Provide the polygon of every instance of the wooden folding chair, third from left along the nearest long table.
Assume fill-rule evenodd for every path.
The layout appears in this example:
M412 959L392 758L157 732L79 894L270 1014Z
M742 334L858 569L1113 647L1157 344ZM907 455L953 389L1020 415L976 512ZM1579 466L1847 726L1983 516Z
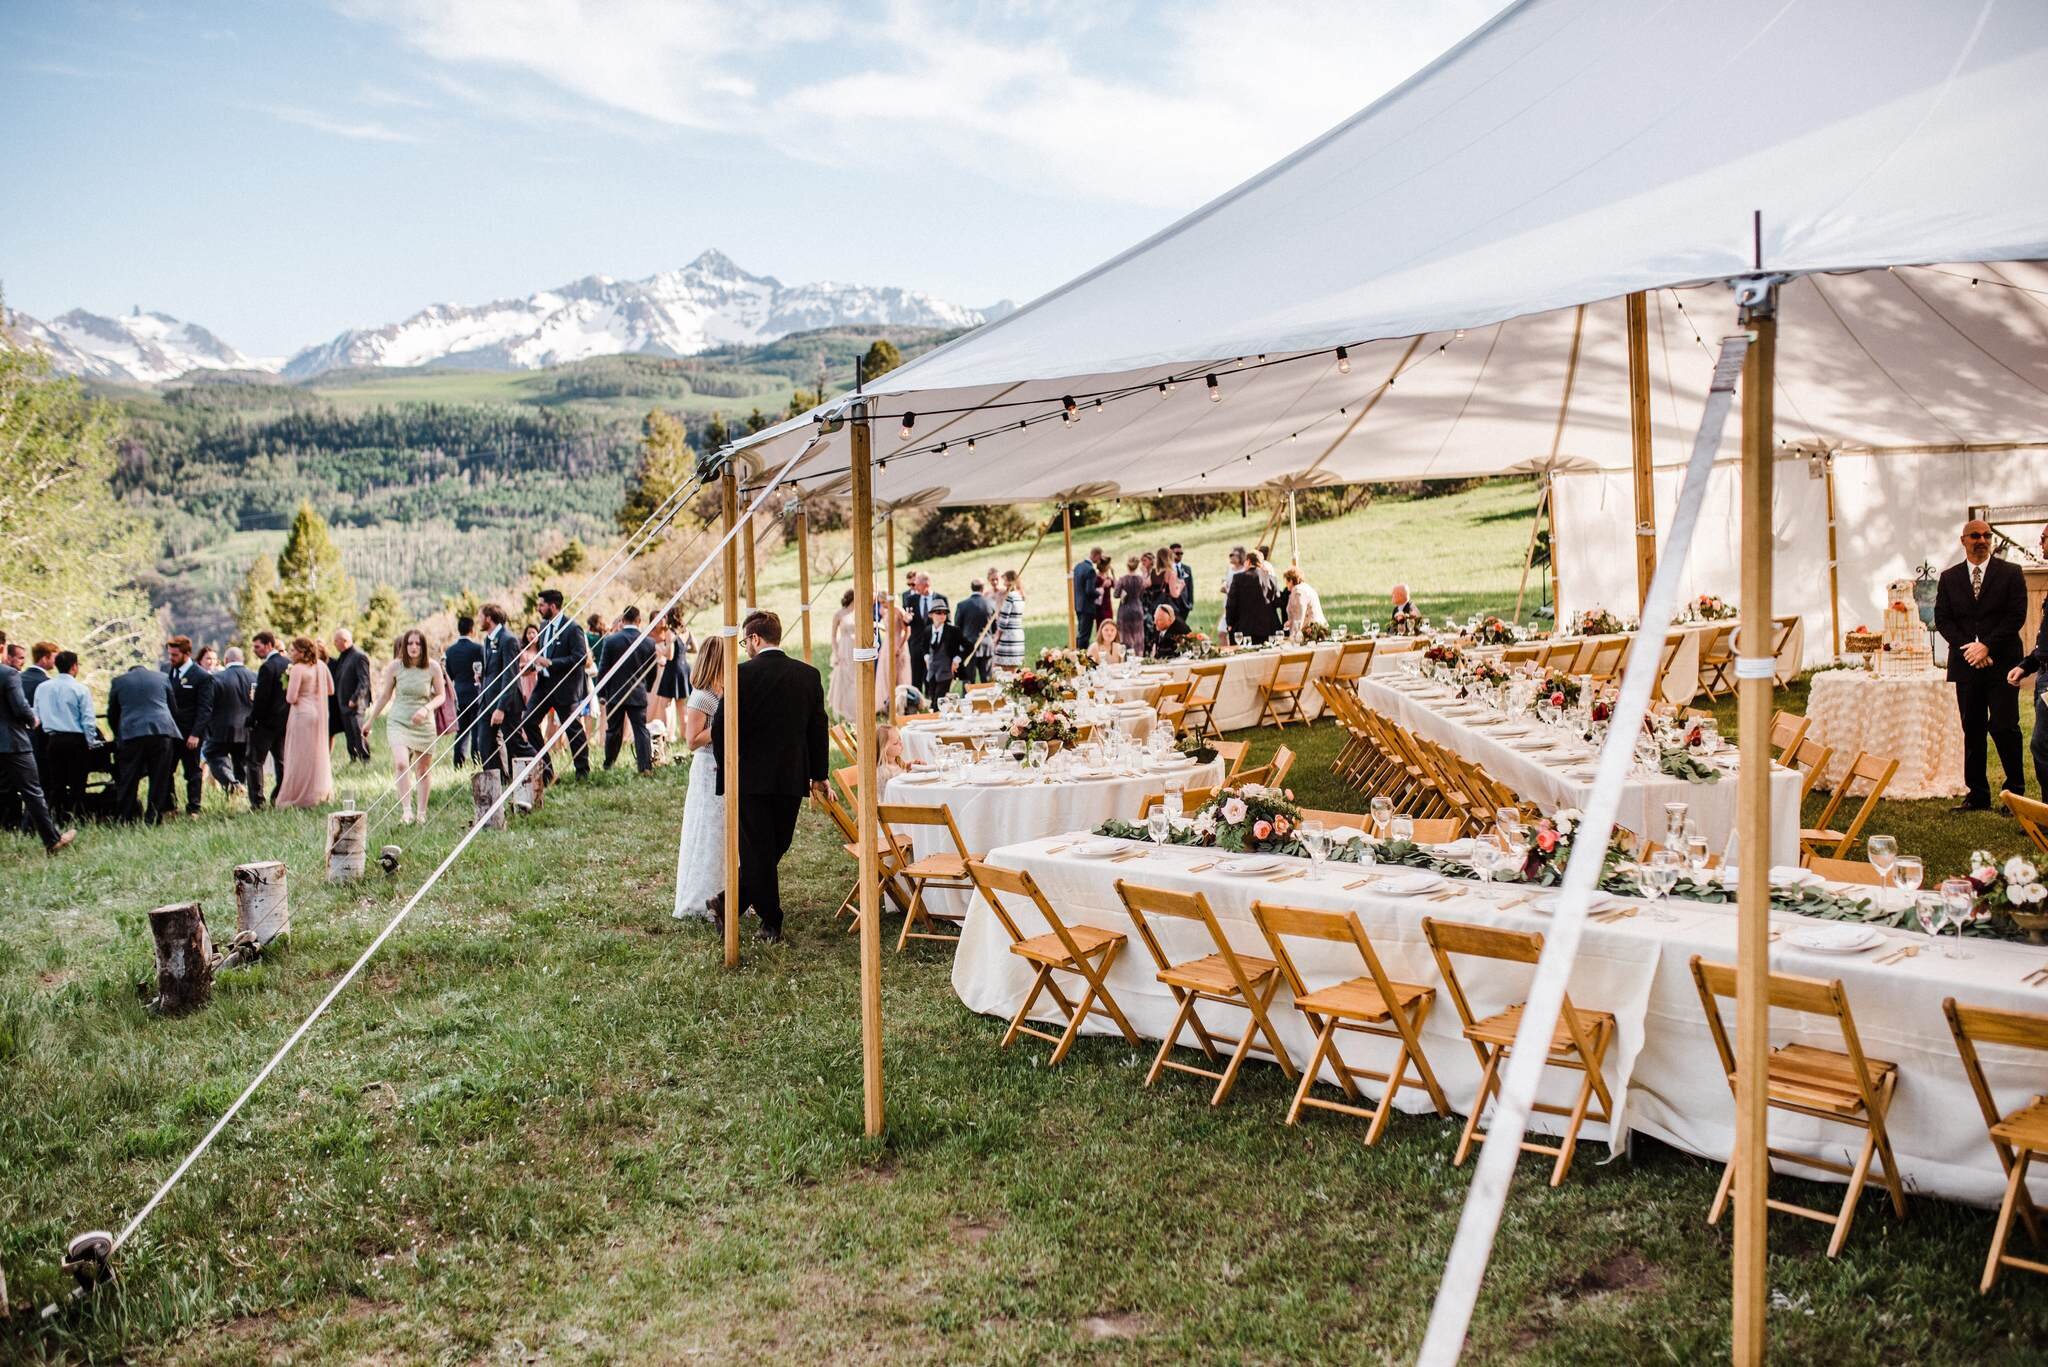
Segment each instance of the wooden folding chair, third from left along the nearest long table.
M1370 1121L1370 1125L1366 1125L1366 1146L1370 1148L1378 1144L1380 1135L1386 1131L1386 1119L1393 1115L1395 1094L1403 1086L1423 1088L1430 1092L1430 1101L1436 1103L1436 1113L1450 1115L1450 1103L1444 1099L1444 1088L1438 1086L1436 1072L1430 1068L1430 1058L1421 1049L1421 1025L1430 1019L1430 1006L1436 1004L1436 988L1415 982L1393 982L1386 978L1386 969L1380 967L1380 957L1372 951L1372 941L1366 937L1366 926L1360 924L1354 912L1315 912L1298 906L1253 902L1251 918L1260 922L1266 943L1272 945L1274 961L1280 965L1280 974L1286 978L1286 986L1294 994L1294 1010L1298 1010L1309 1023L1309 1029L1315 1031L1315 1053L1309 1055L1309 1064L1300 1070L1300 1086L1294 1088L1294 1105L1286 1111L1288 1125L1300 1121L1303 1107L1356 1115ZM1290 935L1333 945L1352 945L1358 949L1358 957L1364 959L1366 971L1358 978L1348 978L1343 982L1311 990L1307 980L1300 976L1300 967L1294 963L1294 955L1286 951L1286 937ZM1354 1035L1378 1035L1380 1039L1399 1039L1401 1049L1395 1053L1393 1072L1366 1072L1346 1064L1343 1053L1337 1047L1337 1039L1343 1031ZM1343 1088L1348 1101L1323 1101L1313 1094L1315 1080L1325 1062L1329 1064L1331 1074L1335 1074L1337 1086ZM1415 1078L1407 1076L1409 1064L1415 1066ZM1364 1103L1364 1094L1358 1090L1360 1080L1378 1082L1382 1086L1380 1105L1370 1111L1360 1105Z

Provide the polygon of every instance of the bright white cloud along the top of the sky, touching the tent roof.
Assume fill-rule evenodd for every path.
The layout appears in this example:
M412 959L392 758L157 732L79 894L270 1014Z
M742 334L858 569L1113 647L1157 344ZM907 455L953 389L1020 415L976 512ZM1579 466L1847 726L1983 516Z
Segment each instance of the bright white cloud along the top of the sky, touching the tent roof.
M770 0L338 2L438 61L520 72L655 125L1149 207L1229 189L1499 8L885 0L856 23ZM530 96L512 98L532 115Z

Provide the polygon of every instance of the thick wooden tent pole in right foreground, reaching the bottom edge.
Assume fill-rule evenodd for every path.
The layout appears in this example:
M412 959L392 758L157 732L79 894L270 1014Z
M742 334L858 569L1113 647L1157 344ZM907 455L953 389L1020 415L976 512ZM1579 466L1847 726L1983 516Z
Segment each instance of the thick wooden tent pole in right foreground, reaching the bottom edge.
M1743 641L1737 660L1737 728L1743 769L1737 828L1741 887L1735 951L1735 1340L1737 1363L1765 1349L1767 1250L1765 1070L1769 1066L1769 851L1772 851L1772 387L1778 289L1745 307L1755 338L1743 361ZM1757 666L1751 676L1749 666Z

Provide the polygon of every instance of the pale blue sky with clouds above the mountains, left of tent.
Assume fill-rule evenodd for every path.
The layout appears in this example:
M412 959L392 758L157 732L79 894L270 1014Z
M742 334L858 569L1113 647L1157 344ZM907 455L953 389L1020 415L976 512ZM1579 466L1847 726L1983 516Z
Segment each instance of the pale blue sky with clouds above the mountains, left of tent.
M0 4L0 281L285 355L717 246L1028 299L1497 0ZM1194 283L1198 287L1198 283Z

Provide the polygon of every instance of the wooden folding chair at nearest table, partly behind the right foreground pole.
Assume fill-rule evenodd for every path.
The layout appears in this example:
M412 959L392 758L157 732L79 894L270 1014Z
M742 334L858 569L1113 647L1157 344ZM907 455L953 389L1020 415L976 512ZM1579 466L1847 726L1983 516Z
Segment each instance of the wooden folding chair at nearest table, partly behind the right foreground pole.
M1735 1047L1729 1043L1729 1027L1720 1021L1720 1002L1716 1000L1722 996L1735 996L1735 965L1706 963L1700 955L1694 955L1692 980L1700 988L1700 1004L1706 1008L1706 1027L1714 1033L1714 1049L1720 1051L1720 1068L1729 1074L1729 1090L1735 1092ZM1892 1195L1892 1209L1898 1211L1901 1219L1905 1219L1907 1189L1898 1180L1898 1164L1892 1162L1892 1142L1884 1133L1884 1117L1886 1111L1890 1111L1892 1092L1898 1088L1898 1066L1864 1053L1864 1045L1855 1035L1855 1019L1849 1014L1849 998L1843 994L1839 978L1827 980L1772 974L1765 992L1769 996L1769 1006L1780 1010L1804 1010L1817 1017L1833 1017L1841 1027L1841 1049L1780 1045L1772 1049L1769 1066L1763 1074L1767 1092L1765 1103L1769 1109L1806 1115L1817 1121L1833 1121L1837 1125L1849 1125L1864 1131L1864 1150L1858 1154L1853 1166L1843 1166L1831 1158L1806 1158L1804 1154L1776 1150L1765 1144L1769 1158L1796 1162L1823 1172L1837 1172L1849 1178L1849 1189L1843 1193L1841 1209L1833 1215L1806 1205L1765 1197L1765 1205L1774 1211L1784 1215L1804 1215L1806 1219L1817 1219L1833 1228L1835 1234L1827 1240L1827 1256L1833 1258L1841 1252L1843 1240L1849 1238L1849 1221L1855 1219L1855 1201L1864 1195L1864 1183L1870 1178L1872 1156L1876 1156L1884 1185ZM1714 1193L1714 1205L1706 1215L1706 1224L1720 1224L1720 1213L1729 1207L1729 1193L1735 1191L1737 1152L1733 1150L1739 1148L1741 1146L1737 1144L1729 1152L1729 1166L1720 1174L1720 1191Z

